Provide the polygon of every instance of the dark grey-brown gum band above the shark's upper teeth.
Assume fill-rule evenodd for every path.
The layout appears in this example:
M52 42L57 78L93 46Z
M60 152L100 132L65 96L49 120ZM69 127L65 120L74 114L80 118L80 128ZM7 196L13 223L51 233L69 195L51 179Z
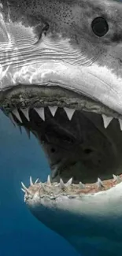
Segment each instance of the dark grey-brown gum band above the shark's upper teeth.
M60 83L43 83L41 85L23 85L6 87L0 92L0 106L6 113L14 109L39 108L46 106L68 107L69 109L91 111L108 117L122 119L120 113L101 102L75 91L62 87Z

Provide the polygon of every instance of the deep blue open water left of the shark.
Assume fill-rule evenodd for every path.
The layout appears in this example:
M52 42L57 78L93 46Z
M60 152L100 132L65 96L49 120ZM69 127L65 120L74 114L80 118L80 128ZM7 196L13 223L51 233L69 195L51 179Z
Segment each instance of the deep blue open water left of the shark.
M20 181L46 180L50 169L38 141L29 140L0 113L0 256L78 256L66 241L31 215Z

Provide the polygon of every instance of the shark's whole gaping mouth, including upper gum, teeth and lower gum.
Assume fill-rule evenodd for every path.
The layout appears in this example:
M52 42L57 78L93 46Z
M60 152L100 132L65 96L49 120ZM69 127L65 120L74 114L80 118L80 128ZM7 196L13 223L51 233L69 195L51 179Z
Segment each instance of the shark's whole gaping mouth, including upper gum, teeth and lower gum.
M56 193L57 187L68 194L94 193L120 183L122 132L117 113L83 95L51 86L29 90L18 86L3 92L1 102L13 123L39 139ZM49 186L44 184L47 194Z

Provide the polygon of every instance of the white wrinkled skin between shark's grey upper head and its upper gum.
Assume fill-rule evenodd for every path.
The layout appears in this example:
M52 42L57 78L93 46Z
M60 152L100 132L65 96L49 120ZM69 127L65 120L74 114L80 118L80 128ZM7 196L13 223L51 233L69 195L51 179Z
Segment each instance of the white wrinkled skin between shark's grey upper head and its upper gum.
M25 28L24 28L25 29ZM43 36L39 43L17 46L17 43L0 46L2 49L0 92L19 85L29 87L61 87L72 93L84 95L122 114L121 78L111 69L92 63L79 46L58 35ZM114 115L112 115L114 116Z

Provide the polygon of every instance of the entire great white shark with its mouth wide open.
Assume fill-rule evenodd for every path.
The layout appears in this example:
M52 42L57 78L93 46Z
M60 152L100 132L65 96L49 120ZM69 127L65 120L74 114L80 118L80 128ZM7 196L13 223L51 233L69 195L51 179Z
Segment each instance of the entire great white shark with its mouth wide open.
M84 256L120 255L122 3L1 0L0 107L50 164L22 183L31 213Z

